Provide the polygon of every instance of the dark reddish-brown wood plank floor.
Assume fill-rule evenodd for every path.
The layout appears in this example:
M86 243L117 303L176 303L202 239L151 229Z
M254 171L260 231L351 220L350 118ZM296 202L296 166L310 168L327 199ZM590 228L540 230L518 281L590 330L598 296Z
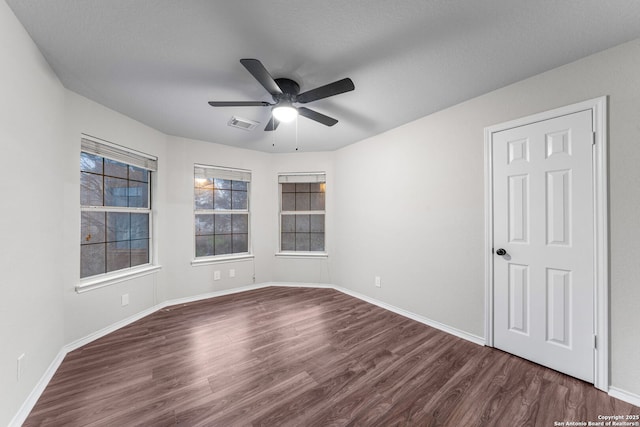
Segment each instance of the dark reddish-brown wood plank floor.
M25 426L553 426L640 414L330 289L168 307L67 355Z

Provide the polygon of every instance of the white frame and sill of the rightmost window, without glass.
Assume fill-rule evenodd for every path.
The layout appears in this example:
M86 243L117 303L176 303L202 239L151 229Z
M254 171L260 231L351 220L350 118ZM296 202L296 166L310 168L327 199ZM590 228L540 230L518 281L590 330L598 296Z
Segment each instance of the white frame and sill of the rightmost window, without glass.
M327 174L326 172L289 172L278 174L278 248L277 257L284 258L327 258ZM324 210L308 210L308 211L283 211L282 210L282 185L283 184L313 184L322 183L325 185L325 206ZM282 250L282 217L283 215L324 215L323 234L324 234L324 250L322 251L296 251Z

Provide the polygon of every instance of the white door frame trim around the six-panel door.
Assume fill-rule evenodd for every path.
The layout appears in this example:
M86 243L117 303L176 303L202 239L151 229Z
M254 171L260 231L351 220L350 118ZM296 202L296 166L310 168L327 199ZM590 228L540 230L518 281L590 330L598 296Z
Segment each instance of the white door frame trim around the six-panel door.
M528 124L591 111L593 117L594 197L594 386L609 391L609 199L607 97L556 108L484 129L485 345L493 347L493 134Z

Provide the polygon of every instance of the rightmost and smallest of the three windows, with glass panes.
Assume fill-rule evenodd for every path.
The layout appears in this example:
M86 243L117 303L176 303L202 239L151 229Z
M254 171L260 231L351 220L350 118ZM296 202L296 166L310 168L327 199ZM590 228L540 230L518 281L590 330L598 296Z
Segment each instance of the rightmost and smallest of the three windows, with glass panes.
M325 252L325 174L281 174L280 252Z

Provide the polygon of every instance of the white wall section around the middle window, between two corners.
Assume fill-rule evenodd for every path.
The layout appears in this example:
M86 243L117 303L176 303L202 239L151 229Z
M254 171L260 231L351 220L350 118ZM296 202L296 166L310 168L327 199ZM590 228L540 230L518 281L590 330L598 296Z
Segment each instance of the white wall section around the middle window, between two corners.
M242 131L239 131L242 132ZM271 236L269 234L273 201L268 196L267 181L270 156L184 138L170 137L167 148L167 223L166 257L163 265L168 274L164 299L176 299L205 294L271 280L268 262ZM193 166L196 163L252 172L250 189L250 232L253 259L229 263L192 266L194 259ZM235 277L229 277L229 270ZM214 281L214 272L220 280ZM255 274L255 280L254 280Z

